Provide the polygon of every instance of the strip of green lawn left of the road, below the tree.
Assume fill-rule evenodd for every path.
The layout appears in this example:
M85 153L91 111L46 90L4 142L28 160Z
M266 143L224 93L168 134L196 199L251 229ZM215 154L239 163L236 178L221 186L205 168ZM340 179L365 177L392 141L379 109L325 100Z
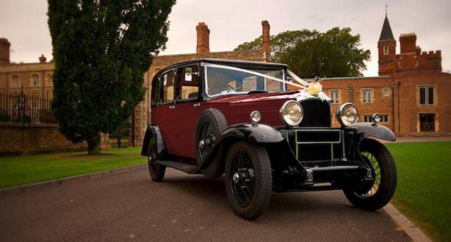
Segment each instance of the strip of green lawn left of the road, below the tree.
M0 188L144 164L141 147L103 150L99 156L69 152L0 157Z

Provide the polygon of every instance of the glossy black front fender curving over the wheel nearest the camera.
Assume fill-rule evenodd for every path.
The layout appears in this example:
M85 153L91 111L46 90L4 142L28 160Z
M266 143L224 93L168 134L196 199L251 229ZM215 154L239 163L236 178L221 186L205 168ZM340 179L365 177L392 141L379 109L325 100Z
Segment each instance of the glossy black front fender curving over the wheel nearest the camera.
M283 142L280 131L265 124L239 123L229 126L216 140L211 152L197 170L213 178L223 174L228 148L237 140L248 140L259 145ZM194 171L193 171L194 172Z

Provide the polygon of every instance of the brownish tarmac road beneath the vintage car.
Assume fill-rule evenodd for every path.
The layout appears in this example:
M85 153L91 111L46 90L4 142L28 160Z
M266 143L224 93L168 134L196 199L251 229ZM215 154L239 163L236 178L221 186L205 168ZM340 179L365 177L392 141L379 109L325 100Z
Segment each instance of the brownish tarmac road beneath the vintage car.
M273 193L264 216L233 214L221 179L147 169L0 197L0 241L410 241L383 210L340 191Z

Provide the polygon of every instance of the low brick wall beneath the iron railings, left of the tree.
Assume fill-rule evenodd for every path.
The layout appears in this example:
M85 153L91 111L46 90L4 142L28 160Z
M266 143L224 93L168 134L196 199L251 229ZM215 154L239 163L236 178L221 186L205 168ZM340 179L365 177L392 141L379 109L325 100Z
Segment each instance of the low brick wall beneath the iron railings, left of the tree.
M86 143L73 144L55 124L0 123L0 156L87 150Z

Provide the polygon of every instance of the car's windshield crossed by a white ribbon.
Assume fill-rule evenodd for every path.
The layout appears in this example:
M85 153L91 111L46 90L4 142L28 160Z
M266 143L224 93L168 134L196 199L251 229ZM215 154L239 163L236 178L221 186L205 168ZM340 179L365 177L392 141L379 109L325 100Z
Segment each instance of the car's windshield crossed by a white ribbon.
M217 95L245 94L252 91L281 92L285 84L271 79L285 80L283 69L254 70L228 66L206 66L206 93Z

